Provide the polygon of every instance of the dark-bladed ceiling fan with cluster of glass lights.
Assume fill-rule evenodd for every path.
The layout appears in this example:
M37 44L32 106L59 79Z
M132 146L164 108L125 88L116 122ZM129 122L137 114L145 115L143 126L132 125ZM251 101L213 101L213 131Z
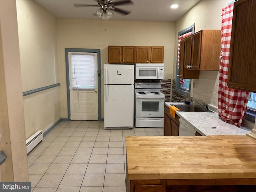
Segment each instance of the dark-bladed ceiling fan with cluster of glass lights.
M74 7L94 7L99 6L100 8L95 11L96 16L101 17L102 19L106 20L112 17L114 14L112 11L118 12L122 15L128 15L131 12L128 10L123 10L120 8L116 8L116 6L123 5L123 4L133 4L131 0L122 0L117 2L112 2L112 0L94 0L98 2L98 5L91 5L91 4L74 4Z

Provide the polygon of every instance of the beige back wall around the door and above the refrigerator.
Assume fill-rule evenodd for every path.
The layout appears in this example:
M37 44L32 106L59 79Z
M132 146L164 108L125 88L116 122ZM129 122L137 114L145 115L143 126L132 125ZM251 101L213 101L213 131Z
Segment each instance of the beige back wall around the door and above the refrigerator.
M68 116L65 48L100 49L101 70L103 70L103 64L108 62L108 45L164 46L164 78L172 78L174 75L174 36L174 22L57 19L61 118ZM103 82L102 78L101 81ZM101 91L103 98L103 86ZM104 116L103 103L102 99L102 117Z

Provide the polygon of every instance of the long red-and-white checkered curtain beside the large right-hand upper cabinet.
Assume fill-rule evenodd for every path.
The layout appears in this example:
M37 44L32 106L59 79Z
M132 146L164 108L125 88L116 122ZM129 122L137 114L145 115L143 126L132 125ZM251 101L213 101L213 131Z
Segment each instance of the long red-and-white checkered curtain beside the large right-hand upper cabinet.
M233 8L234 4L230 4L222 9L222 60L220 62L218 113L225 122L241 126L246 113L249 92L230 89L227 86Z

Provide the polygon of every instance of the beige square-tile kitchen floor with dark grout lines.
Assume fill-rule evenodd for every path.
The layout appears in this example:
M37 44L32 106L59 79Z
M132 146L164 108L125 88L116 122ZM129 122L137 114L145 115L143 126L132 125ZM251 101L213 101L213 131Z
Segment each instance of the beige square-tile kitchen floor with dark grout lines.
M126 136L163 128L105 130L101 121L60 122L28 154L33 192L125 192Z

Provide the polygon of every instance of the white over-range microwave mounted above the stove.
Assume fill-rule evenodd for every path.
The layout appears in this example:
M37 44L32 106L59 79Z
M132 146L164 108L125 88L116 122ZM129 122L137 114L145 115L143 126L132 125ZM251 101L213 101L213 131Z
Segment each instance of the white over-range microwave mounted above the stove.
M163 79L164 64L163 63L142 63L135 64L136 79Z

